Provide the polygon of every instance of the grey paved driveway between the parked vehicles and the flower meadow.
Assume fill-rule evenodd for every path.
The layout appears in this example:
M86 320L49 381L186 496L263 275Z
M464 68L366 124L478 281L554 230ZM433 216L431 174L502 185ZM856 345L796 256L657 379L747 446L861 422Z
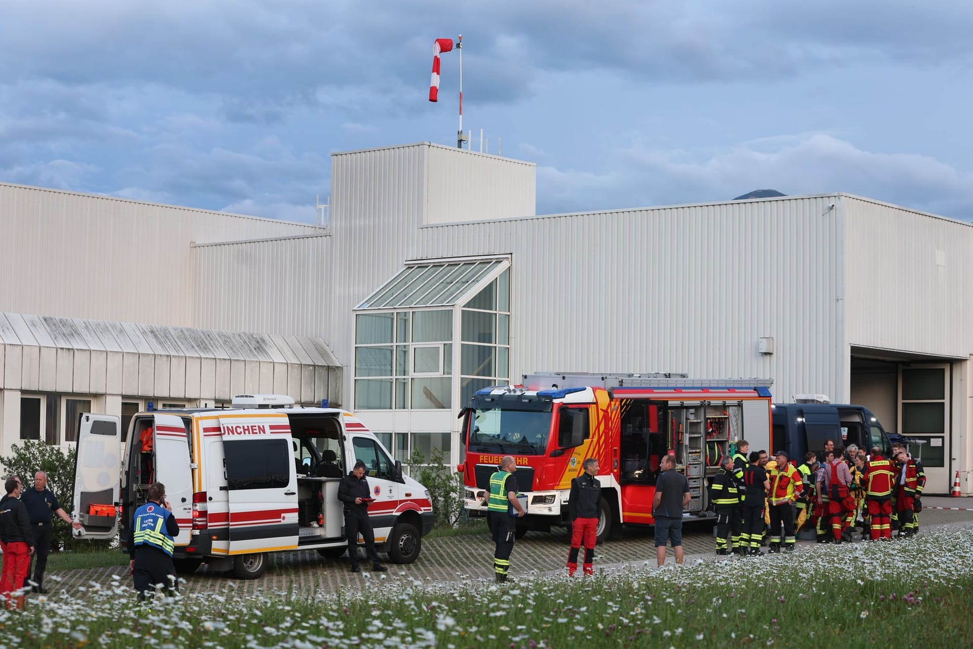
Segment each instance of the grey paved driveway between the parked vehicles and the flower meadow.
M973 522L973 511L933 509L933 507L969 508L973 510L973 498L937 498L927 496L922 499L925 509L919 515L921 526L949 523ZM713 556L712 525L703 523L687 525L683 532L683 543L688 556ZM800 546L813 541L799 541ZM563 569L567 559L568 538L563 530L552 533L528 532L517 541L511 557L511 574L522 575L530 572L558 571ZM669 549L671 554L671 549ZM422 544L422 553L410 565L388 563L389 571L384 575L372 575L367 571L361 575L348 572L347 559L322 559L316 552L303 551L271 555L270 567L262 579L240 581L223 574L208 572L205 567L197 574L188 577L184 592L244 592L251 593L260 589L265 592L299 593L315 591L335 592L345 585L359 583L362 579L381 578L390 582L461 581L467 579L489 579L493 577L493 543L486 531L479 534L448 536L427 539ZM595 567L598 564L617 564L632 561L655 561L655 544L650 527L627 527L624 538L598 546L595 551ZM365 568L369 563L362 561ZM62 581L48 582L46 585L74 591L90 582L107 584L112 575L127 576L127 566L94 568L90 570L70 570L60 573ZM55 571L54 573L58 573Z

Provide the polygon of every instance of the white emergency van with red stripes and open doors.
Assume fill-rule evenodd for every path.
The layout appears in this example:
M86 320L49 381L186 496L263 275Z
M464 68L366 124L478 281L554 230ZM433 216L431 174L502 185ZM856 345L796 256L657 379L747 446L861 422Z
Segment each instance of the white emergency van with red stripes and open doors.
M121 526L126 543L132 513L161 482L179 523L173 559L183 573L205 561L256 579L271 552L341 557L338 487L356 460L375 498L368 511L378 552L411 563L432 528L429 492L341 409L238 395L229 409L139 413L127 436L119 417L84 414L77 439L73 511L85 538L114 538Z

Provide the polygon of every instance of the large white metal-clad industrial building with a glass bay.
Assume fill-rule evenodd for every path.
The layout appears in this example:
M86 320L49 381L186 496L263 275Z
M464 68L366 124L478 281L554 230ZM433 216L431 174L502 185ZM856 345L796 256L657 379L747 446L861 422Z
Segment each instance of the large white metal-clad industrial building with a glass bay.
M537 216L535 171L333 154L321 227L0 184L0 448L272 391L456 461L480 387L682 372L864 404L971 491L973 226L847 194Z

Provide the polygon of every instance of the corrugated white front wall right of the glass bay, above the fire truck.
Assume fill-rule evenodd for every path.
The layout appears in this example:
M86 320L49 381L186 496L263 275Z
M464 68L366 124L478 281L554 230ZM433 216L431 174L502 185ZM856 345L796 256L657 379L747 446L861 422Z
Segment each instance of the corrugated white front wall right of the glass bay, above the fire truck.
M424 228L413 257L513 255L512 374L686 372L843 394L834 196ZM758 339L773 337L762 355ZM341 353L337 352L336 353Z

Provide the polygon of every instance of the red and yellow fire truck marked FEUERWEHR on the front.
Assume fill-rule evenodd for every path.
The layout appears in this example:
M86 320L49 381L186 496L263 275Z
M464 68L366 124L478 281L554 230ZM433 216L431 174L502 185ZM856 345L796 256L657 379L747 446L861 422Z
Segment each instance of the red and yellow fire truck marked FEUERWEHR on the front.
M689 379L677 374L526 375L522 385L485 388L463 413L466 455L463 505L486 516L480 498L500 458L517 462L527 515L517 535L570 524L567 499L582 462L599 464L598 541L621 523L653 524L660 460L674 455L691 500L686 519L715 517L707 480L720 455L746 440L751 451L771 446L770 379Z

